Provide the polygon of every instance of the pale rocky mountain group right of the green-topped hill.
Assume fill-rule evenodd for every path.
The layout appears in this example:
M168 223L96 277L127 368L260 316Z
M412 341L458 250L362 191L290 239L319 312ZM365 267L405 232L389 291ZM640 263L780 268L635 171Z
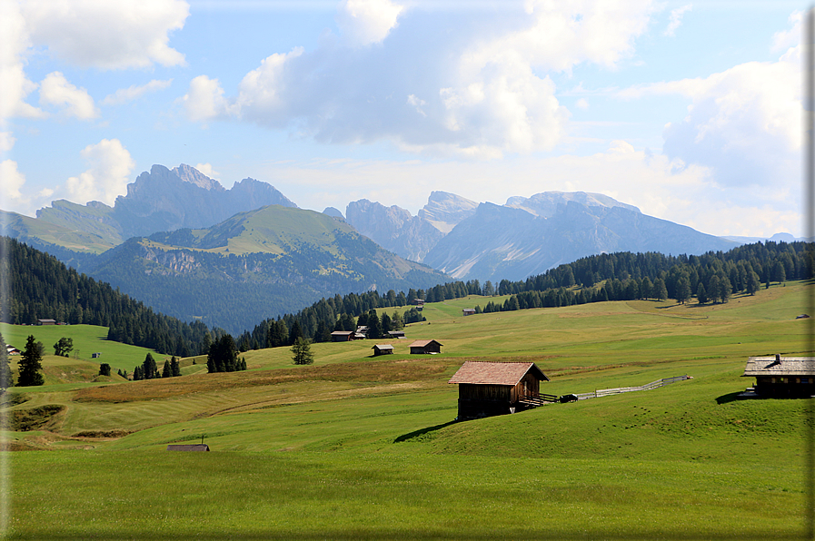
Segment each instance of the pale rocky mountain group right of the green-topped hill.
M504 205L432 192L416 216L361 200L349 203L346 220L388 250L459 280L523 280L602 252L701 254L742 243L586 192L511 197Z

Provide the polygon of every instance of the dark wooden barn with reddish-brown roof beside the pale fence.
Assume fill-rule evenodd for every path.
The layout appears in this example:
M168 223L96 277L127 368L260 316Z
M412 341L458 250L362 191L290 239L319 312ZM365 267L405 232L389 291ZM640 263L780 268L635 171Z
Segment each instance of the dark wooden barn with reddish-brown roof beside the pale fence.
M461 420L534 408L542 403L541 381L549 378L533 362L468 360L448 383L459 386Z

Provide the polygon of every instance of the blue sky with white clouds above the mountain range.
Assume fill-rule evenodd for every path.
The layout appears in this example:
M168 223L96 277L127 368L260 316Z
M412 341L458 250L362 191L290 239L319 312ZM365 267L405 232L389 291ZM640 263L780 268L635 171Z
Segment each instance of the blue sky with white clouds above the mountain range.
M153 164L298 206L598 192L803 234L802 2L0 0L0 209Z

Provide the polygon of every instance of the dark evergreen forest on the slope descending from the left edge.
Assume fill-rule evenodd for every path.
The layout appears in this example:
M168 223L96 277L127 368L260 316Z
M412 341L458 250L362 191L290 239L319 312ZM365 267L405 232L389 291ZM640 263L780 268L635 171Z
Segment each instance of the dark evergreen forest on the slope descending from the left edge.
M0 320L35 324L53 319L108 327L107 338L189 357L204 347L206 325L156 313L109 284L68 269L55 257L0 237Z

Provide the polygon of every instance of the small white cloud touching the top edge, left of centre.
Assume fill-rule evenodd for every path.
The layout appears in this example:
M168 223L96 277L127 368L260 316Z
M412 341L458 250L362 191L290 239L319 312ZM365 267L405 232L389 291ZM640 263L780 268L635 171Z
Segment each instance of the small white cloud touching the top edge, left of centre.
M358 46L382 43L404 10L391 0L343 0L337 25L348 43Z

